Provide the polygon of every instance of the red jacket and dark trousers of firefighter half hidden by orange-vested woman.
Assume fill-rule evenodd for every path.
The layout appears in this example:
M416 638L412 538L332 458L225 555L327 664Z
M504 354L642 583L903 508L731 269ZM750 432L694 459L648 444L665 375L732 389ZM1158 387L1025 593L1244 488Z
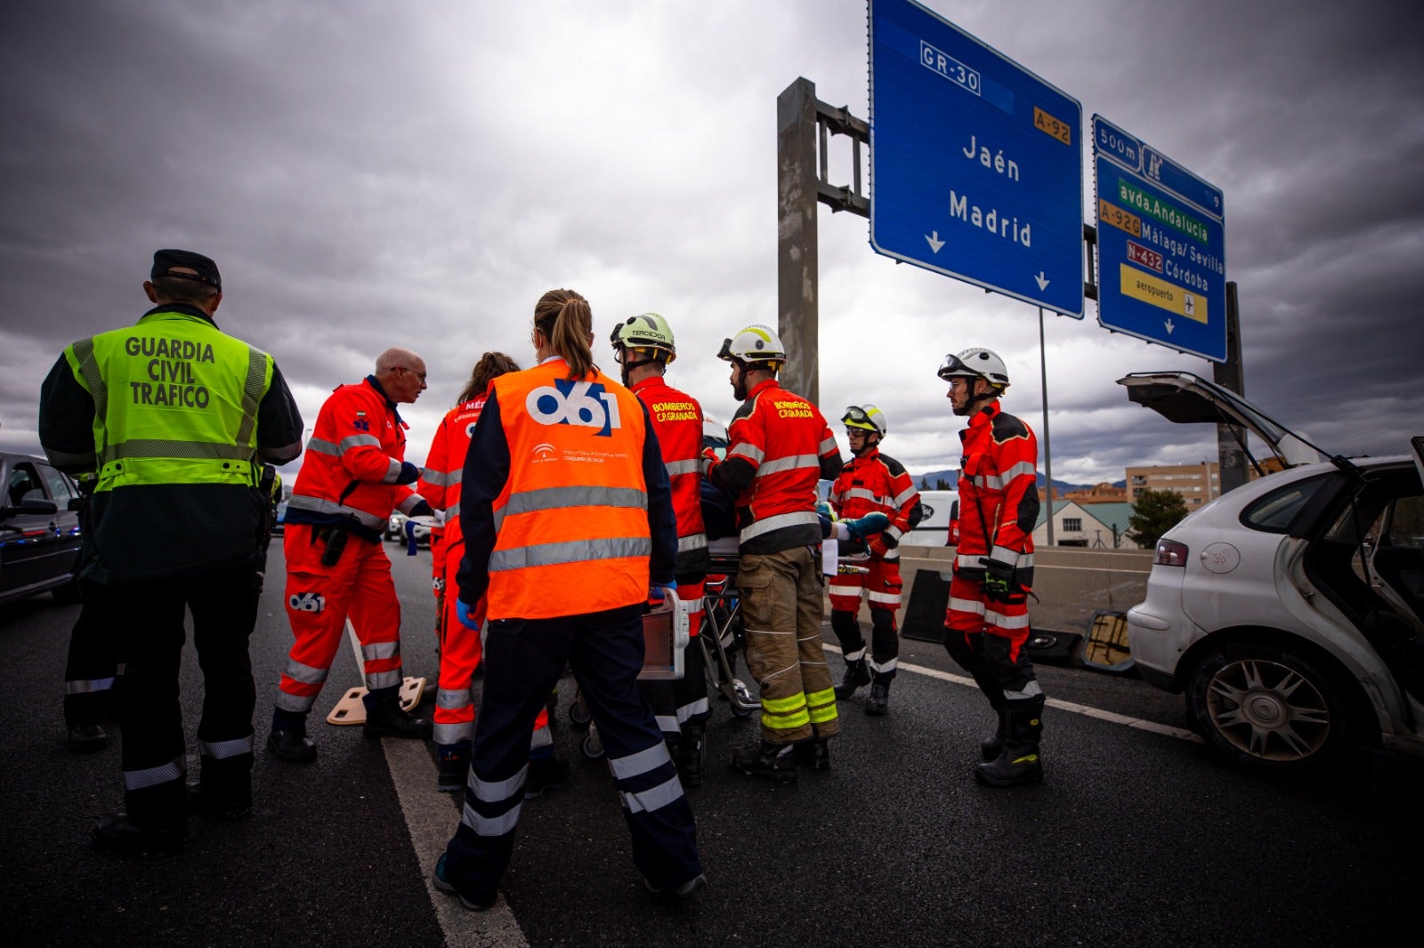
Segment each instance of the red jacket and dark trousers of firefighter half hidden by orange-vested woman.
M648 418L658 436L658 448L672 484L672 511L678 517L675 572L678 598L688 604L689 636L684 651L684 672L675 682L641 683L652 685L644 688L644 693L654 706L658 730L671 737L688 722L701 723L712 715L706 675L702 670L702 649L691 641L702 626L702 591L712 562L702 524L702 406L692 396L669 386L662 376L642 379L631 390L648 406ZM658 695L668 690L671 697Z

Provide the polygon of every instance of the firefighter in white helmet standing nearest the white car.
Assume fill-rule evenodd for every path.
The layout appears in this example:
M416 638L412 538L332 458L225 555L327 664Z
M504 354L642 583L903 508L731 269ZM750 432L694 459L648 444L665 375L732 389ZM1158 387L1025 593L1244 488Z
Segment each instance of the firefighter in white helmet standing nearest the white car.
M984 740L980 783L1012 787L1042 780L1038 756L1044 692L1034 676L1028 641L1028 592L1034 585L1034 524L1038 521L1038 441L1022 420L1000 410L1008 389L1004 360L988 349L946 356L960 433L960 544L944 616L944 648L998 712L998 730Z

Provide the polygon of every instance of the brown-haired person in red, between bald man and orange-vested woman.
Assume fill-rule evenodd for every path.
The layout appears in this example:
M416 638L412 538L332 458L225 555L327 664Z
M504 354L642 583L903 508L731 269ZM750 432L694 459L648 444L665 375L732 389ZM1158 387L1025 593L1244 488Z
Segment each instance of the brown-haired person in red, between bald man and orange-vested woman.
M466 455L470 453L470 433L480 420L490 383L508 372L518 372L518 364L503 352L487 352L476 363L470 380L446 413L430 441L426 455L426 470L416 490L433 508L444 511L440 545L436 549L431 534L431 559L434 561L436 591L436 639L440 643L440 685L436 692L434 742L440 764L436 787L441 793L464 790L470 773L470 739L474 734L474 703L470 686L474 670L480 665L480 632L484 622L484 601L476 604L476 612L468 628L461 622L456 605L456 574L464 557L464 532L460 530L460 480ZM541 710L534 720L534 736L530 740L530 773L524 783L524 796L537 797L544 790L558 787L568 779L568 764L554 757L554 737L548 730L548 712Z

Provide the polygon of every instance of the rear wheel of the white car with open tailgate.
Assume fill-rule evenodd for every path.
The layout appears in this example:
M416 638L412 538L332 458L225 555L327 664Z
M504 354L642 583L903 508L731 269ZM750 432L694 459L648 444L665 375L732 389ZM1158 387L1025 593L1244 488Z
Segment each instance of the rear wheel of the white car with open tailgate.
M1196 730L1257 773L1310 770L1344 743L1347 710L1333 678L1289 648L1236 645L1206 655L1186 689Z

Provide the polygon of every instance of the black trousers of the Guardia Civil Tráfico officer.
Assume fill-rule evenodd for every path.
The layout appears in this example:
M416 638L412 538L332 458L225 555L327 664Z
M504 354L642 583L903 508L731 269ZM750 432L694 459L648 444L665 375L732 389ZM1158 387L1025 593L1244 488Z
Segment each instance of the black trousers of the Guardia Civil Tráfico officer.
M144 827L179 827L187 807L187 753L178 672L184 618L202 669L198 752L205 796L238 803L252 796L252 710L256 689L248 638L256 625L261 576L252 567L107 589L125 656L122 727L124 804Z

